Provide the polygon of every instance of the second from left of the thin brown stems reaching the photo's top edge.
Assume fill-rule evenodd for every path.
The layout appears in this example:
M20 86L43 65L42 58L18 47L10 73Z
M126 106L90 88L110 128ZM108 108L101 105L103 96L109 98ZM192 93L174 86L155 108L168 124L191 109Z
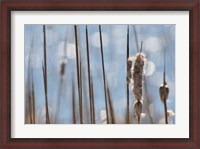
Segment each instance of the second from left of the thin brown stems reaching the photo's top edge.
M81 101L81 86L80 86L80 77L79 77L79 49L78 49L78 35L77 35L77 26L74 25L75 33L75 45L76 45L76 66L77 66L77 83L78 83L78 96L79 96L79 113L80 113L80 123L83 124L82 118L82 101Z

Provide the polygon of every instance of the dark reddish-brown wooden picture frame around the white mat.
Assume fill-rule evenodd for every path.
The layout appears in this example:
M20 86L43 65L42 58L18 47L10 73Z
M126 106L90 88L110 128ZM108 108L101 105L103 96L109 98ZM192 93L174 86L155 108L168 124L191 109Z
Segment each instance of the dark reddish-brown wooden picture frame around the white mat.
M200 148L199 0L3 0L0 27L0 148ZM189 139L13 139L11 138L12 11L189 11L190 137ZM184 85L184 83L183 83Z

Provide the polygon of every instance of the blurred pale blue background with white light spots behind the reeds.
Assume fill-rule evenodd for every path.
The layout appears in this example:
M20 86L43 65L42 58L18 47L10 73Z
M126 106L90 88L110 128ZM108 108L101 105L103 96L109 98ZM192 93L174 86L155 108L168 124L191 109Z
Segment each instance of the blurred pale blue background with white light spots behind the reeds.
M130 26L130 56L137 53L133 25ZM86 61L85 25L78 25L78 43L83 63L83 121L89 123L89 92ZM117 123L126 120L126 47L127 25L102 25L105 72L111 89ZM166 49L166 80L169 85L168 110L175 113L175 25L135 25L138 42L143 41L143 53L146 55L144 107L145 117L141 123L150 124L150 117L155 124L164 123L164 106L159 96L159 86L163 82L163 51ZM105 99L98 25L88 25L90 67L94 80L94 98L96 123L105 123ZM36 123L45 123L45 97L42 74L43 62L43 26L25 25L25 82L27 80L28 61L31 61L36 96ZM33 40L33 50L31 42ZM76 53L74 25L46 25L48 99L51 121L55 119L58 101L60 64L63 60L64 42L66 41L66 71L61 89L61 104L58 123L72 123L72 79L76 82ZM29 57L30 54L30 57ZM76 88L76 115L78 114L78 92ZM147 100L148 97L148 100ZM133 113L134 97L130 92L131 123L137 123ZM27 107L26 107L27 109ZM173 115L173 114L172 114ZM170 116L170 123L175 123L175 116Z

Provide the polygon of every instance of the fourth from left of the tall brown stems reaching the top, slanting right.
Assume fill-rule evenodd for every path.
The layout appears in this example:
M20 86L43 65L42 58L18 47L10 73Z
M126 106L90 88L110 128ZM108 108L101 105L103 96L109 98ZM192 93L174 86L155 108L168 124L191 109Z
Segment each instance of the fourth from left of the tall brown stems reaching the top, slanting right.
M104 69L104 57L103 57L103 43L102 43L102 34L101 34L101 25L99 25L99 35L100 35L100 46L101 46L101 61L102 61L102 69L103 69L103 82L104 82L104 95L105 95L105 105L106 105L106 118L107 124L109 124L109 115L108 115L108 103L107 103L107 95L106 95L106 81L105 81L105 69Z

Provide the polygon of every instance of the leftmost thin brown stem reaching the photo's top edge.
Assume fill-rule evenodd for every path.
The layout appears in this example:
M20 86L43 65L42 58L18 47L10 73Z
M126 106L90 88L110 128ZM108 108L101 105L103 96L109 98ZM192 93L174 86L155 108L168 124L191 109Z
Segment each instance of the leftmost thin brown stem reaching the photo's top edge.
M46 124L50 124L49 109L48 109L48 93L47 93L47 60L46 60L46 27L43 25L43 38L44 38L44 90L45 90L45 107L46 107Z

